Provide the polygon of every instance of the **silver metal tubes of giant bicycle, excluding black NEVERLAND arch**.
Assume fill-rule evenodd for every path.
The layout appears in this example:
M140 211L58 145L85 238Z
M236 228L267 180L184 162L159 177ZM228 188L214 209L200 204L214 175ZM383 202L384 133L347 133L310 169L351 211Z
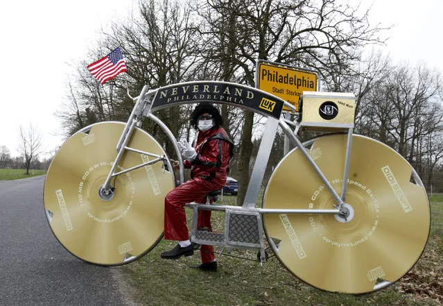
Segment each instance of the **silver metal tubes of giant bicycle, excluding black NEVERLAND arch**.
M219 82L219 83L221 84L223 82ZM183 83L183 84L186 84L186 83ZM229 83L227 83L227 84L229 84ZM260 90L257 90L256 88L252 88L252 87L248 87L248 88L250 88L250 90L261 92ZM111 191L112 186L111 186L110 182L111 182L112 178L114 178L114 176L118 176L120 174L126 173L128 171L132 171L134 169L139 169L140 167L144 167L147 164L153 164L155 162L166 162L168 164L168 169L172 169L171 162L169 161L169 159L166 156L154 155L152 153L139 151L137 149L130 148L127 146L134 129L136 128L137 124L139 124L141 119L143 119L143 117L148 117L149 119L152 119L153 121L155 121L155 123L158 124L160 126L160 128L162 128L162 130L164 130L166 135L168 135L169 139L171 140L171 142L173 144L173 147L177 153L177 157L180 162L180 184L184 181L183 162L182 162L180 150L177 146L177 141L175 140L173 133L171 133L171 130L169 130L168 127L161 120L159 120L157 117L155 117L153 114L150 113L153 100L155 99L155 96L157 95L157 92L159 92L159 90L162 90L162 88L158 88L157 90L148 91L148 86L145 86L143 88L143 90L141 91L141 94L139 96L137 96L136 98L134 98L134 99L137 99L137 102L134 105L134 109L132 110L132 113L130 114L128 122L123 130L123 133L122 133L120 139L119 139L119 143L116 146L118 153L117 153L116 159L114 161L113 167L112 167L109 175L107 176L105 183L103 184L103 190L105 190L105 192L112 192ZM277 96L275 96L275 99L282 101ZM223 103L223 102L218 102L218 103L233 105L232 103ZM236 105L236 106L241 107L241 105ZM289 108L290 110L293 110L295 112L294 106L291 105L290 103L287 103L286 101L284 101L284 106L286 106L287 108ZM277 126L280 126L280 128L285 133L286 137L288 137L288 139L291 142L293 142L293 144L295 146L297 146L297 148L299 148L300 151L302 151L303 155L309 161L309 163L311 164L311 166L313 167L315 172L318 174L318 176L320 177L320 179L322 180L324 185L327 187L329 192L331 192L331 194L333 195L333 198L336 200L336 203L337 203L336 209L318 210L318 212L316 210L309 210L309 213L310 214L338 214L338 213L342 212L341 211L342 205L345 203L345 193L346 193L345 181L346 180L344 180L341 196L339 196L337 194L337 192L332 188L332 186L329 183L329 181L327 180L327 178L323 175L322 171L318 168L317 164L315 164L313 158L311 158L309 153L306 151L306 148L304 148L304 145L302 144L302 142L295 135L293 130L291 130L291 128L289 128L287 122L288 122L288 119L285 119L284 117L281 117L278 120L274 119L272 117L268 117L268 121L266 123L266 128L263 132L263 138L261 139L259 152L257 154L257 159L254 162L254 167L252 169L252 175L250 178L250 182L247 185L245 201L243 202L243 209L251 210L251 209L255 208L257 198L259 197L259 189L261 187L261 182L263 181L263 176L265 173L266 164L268 164L270 151L272 149L272 143L274 142L275 134L277 133ZM293 125L297 126L297 123L294 123ZM343 173L344 178L347 178L347 171L348 171L348 167L349 167L351 138L352 138L352 129L349 128L348 140L347 140L347 153L346 153L346 158L345 158L345 169L344 169L344 173ZM120 171L120 172L116 173L115 172L116 167L118 166L119 161L121 160L121 157L123 156L123 153L125 150L133 151L133 152L140 153L140 154L150 155L150 156L155 157L155 160L151 160L150 162L139 164L135 167L132 167L131 169L125 169L124 171ZM205 209L205 208L202 207L202 205L201 206L198 205L198 209ZM211 208L211 210L218 210L218 209ZM266 209L266 210L258 210L258 211L261 214L279 214L279 213L306 214L306 213L308 213L308 212L306 212L306 210L271 210L271 209Z

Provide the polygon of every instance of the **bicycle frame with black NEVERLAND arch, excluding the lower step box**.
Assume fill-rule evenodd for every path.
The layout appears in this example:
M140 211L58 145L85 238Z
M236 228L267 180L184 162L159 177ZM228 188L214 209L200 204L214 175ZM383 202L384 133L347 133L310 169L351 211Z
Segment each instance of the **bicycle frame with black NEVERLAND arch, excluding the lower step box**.
M180 95L180 90L182 90L181 95ZM223 99L225 99L225 101L223 101ZM171 105L211 102L218 104L233 105L246 110L252 110L253 112L261 114L268 118L268 121L266 123L266 128L263 132L263 138L261 139L261 144L259 146L257 160L254 163L250 182L247 185L247 192L245 195L245 201L243 202L243 209L257 210L260 214L343 213L342 205L345 203L347 169L349 166L352 128L349 128L348 131L345 169L343 170L343 185L342 185L341 196L339 196L338 193L331 187L331 184L329 183L327 178L323 175L322 171L320 171L318 166L315 164L313 158L311 158L311 155L309 155L309 153L306 151L306 148L304 148L302 142L295 135L293 130L290 129L288 124L286 124L286 119L280 118L283 106L285 106L286 108L290 108L290 110L295 111L294 106L290 105L286 101L279 99L277 96L273 96L272 94L268 94L253 87L238 85L236 83L202 81L202 82L179 83L175 85L169 85L166 87L160 87L156 90L148 90L148 86L146 85L144 86L139 96L134 98L134 101L136 101L134 109L130 114L128 122L120 137L119 143L116 146L118 153L116 159L114 160L114 165L110 173L108 174L106 181L102 186L101 194L105 195L112 194L113 190L110 182L112 178L114 178L115 176L119 176L120 174L135 169L139 169L148 164L153 164L155 162L160 162L160 161L166 162L168 164L168 167L171 167L170 161L165 156L153 155L152 153L139 151L135 148L130 148L127 146L130 137L132 136L132 133L134 131L134 128L137 126L137 124L139 124L141 119L143 119L144 117L148 117L149 119L155 121L156 124L159 124L159 126L164 130L166 135L168 135L168 138L171 140L179 160L180 184L182 184L184 182L184 174L183 174L184 167L183 167L181 154L177 146L177 141L173 136L173 133L171 133L171 131L167 128L167 126L157 117L155 117L152 114L152 112L162 108L168 108ZM265 103L268 104L263 104L263 101L265 101ZM270 111L271 106L273 106L272 111ZM266 110L266 107L268 107L268 110ZM266 164L268 164L272 143L274 142L278 126L280 126L280 128L283 130L285 135L290 139L290 141L293 142L293 144L297 146L297 148L299 148L300 151L302 151L306 160L309 161L309 163L311 164L315 172L318 174L324 185L332 194L333 198L336 200L335 209L331 208L331 210L275 210L275 209L255 208L257 198L259 197L259 189L265 173ZM130 169L125 169L124 171L116 173L115 172L116 167L118 166L119 161L121 160L121 157L123 156L123 153L126 150L152 156L155 158L155 160L151 160L149 162L139 164ZM207 208L200 207L200 209L207 209Z

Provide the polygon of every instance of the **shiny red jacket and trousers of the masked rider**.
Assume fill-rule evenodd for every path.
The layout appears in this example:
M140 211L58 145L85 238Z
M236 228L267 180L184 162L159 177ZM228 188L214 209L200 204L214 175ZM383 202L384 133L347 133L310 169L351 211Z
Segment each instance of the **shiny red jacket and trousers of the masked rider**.
M193 162L186 160L184 163L185 167L191 167L191 180L173 189L165 198L165 239L178 241L189 239L184 204L206 203L209 192L220 190L225 185L232 144L223 139L209 139L216 133L226 135L223 128L211 128L206 133L199 133L193 144L198 153L197 158ZM199 212L197 226L212 230L210 211ZM211 262L215 259L212 246L201 246L200 254L202 262Z

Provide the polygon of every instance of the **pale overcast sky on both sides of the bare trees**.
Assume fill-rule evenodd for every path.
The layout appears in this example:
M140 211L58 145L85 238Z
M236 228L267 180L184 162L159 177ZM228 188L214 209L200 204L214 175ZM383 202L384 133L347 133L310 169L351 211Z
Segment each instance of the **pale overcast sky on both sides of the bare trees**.
M371 3L362 2L363 6ZM370 16L374 24L395 24L385 48L394 60L412 65L422 60L443 72L442 0L373 3ZM62 144L62 128L55 113L66 93L70 64L85 58L87 51L94 49L101 27L127 16L132 6L132 0L2 3L0 146L7 146L12 156L17 155L19 126L26 127L30 122L43 135L44 151Z

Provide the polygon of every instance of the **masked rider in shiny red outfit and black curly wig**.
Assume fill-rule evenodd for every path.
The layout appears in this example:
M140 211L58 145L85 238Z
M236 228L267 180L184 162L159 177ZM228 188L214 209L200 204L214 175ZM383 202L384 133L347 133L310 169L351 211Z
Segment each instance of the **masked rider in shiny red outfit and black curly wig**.
M191 168L191 179L173 189L164 200L164 238L178 240L177 246L162 253L162 258L177 259L193 255L186 226L184 204L206 203L210 192L223 188L227 178L227 167L232 157L234 144L221 127L223 118L214 105L197 105L191 115L191 126L197 135L193 144L179 144L184 158L184 167ZM198 228L211 230L211 211L198 212ZM214 247L202 245L202 264L193 266L203 271L217 271Z

